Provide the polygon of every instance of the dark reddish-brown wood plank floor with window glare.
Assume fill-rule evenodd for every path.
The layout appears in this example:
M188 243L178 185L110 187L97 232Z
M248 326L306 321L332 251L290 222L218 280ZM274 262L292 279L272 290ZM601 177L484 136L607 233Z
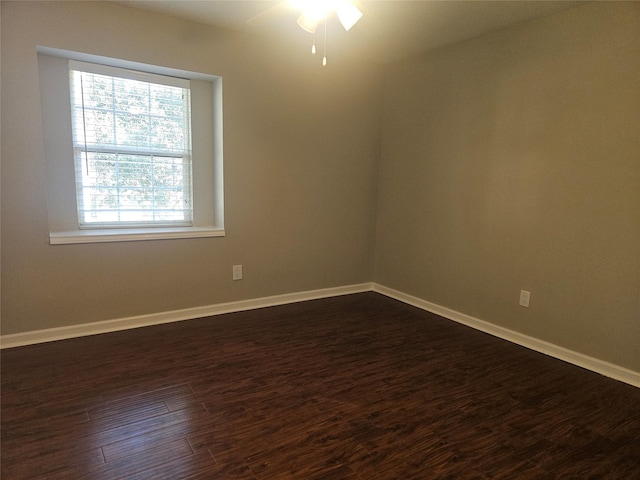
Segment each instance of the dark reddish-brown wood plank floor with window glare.
M365 293L2 351L2 478L638 479L640 389Z

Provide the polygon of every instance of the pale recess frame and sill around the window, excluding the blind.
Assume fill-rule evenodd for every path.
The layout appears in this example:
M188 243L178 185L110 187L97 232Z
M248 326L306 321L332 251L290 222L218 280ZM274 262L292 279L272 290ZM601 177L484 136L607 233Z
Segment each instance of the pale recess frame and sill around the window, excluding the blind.
M193 223L191 226L91 229L79 227L71 136L69 60L134 70L143 74L185 78L191 82L193 146ZM225 235L221 77L48 47L38 47L38 64L51 245Z

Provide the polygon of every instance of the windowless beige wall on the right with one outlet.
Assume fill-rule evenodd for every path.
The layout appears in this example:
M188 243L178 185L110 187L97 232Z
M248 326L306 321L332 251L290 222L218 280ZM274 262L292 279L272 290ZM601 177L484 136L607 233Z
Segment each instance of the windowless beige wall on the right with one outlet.
M640 3L409 59L384 92L375 281L640 371Z

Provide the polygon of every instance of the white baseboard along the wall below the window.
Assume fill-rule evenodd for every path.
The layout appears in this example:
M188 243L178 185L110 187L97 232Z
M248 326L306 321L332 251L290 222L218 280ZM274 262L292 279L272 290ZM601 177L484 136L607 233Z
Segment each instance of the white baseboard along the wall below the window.
M138 315L135 317L104 320L101 322L84 323L81 325L70 325L66 327L48 328L45 330L35 330L25 333L2 335L0 336L0 349L21 347L24 345L32 345L36 343L53 342L55 340L65 340L75 337L84 337L87 335L96 335L99 333L117 332L119 330L129 330L132 328L160 325L162 323L193 320L195 318L221 315L223 313L241 312L245 310L254 310L256 308L272 307L275 305L284 305L287 303L303 302L305 300L335 297L339 295L348 295L351 293L370 292L372 290L372 283L361 283L343 287L309 290L306 292L286 293L284 295L274 295L271 297L255 298L251 300L240 300L237 302L185 308L182 310L151 313L148 315Z

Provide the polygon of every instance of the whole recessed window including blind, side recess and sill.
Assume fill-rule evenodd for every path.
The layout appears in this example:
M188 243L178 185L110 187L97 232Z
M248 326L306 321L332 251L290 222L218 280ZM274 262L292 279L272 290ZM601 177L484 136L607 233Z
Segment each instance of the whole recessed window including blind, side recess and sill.
M222 79L46 47L49 243L224 236Z

